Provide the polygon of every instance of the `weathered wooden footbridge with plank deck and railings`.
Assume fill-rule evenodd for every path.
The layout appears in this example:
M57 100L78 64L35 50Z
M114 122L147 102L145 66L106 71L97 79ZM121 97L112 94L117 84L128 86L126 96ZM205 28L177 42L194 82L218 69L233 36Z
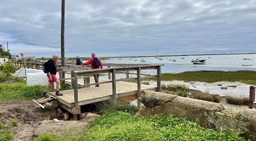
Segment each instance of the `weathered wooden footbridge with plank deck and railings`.
M25 67L33 68L35 66L35 69L40 69L42 62L40 63L30 62ZM13 62L13 64L22 66L22 63L18 62ZM89 66L76 66L71 63L66 65L69 67L59 67L61 69L59 76L62 82L71 84L72 89L61 91L63 96L55 96L54 92L50 94L57 98L62 108L74 115L74 120L77 120L77 115L81 113L80 106L85 104L131 96L138 98L144 90L160 92L160 65L104 63L103 66L107 68L97 70L90 70ZM157 86L141 85L141 78L154 77L149 74L141 74L141 70L157 70ZM130 71L137 71L137 73L130 73ZM65 78L61 78L63 73L65 73ZM120 73L126 74L126 78L116 79L116 74ZM94 79L91 78L93 74L107 74L108 79L99 79L99 83L90 83L94 82ZM136 77L130 78L129 74L135 74ZM134 79L137 80L137 83L128 82ZM95 87L96 84L99 84L99 87ZM140 104L138 100L138 105Z

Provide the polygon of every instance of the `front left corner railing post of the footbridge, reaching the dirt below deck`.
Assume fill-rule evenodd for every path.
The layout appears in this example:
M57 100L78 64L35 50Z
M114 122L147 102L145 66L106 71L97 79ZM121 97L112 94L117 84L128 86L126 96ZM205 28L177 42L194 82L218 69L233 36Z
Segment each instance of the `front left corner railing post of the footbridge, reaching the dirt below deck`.
M73 88L74 88L74 103L76 108L76 113L74 114L74 120L77 120L77 113L80 113L80 109L78 106L78 88L77 88L77 74L72 72L73 74Z

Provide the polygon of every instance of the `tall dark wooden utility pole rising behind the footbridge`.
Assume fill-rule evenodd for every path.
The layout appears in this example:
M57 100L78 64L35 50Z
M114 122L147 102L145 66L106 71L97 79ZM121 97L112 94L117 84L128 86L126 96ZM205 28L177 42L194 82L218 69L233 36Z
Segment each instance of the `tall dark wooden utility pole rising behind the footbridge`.
M65 0L61 0L61 67L65 67L64 31L65 31ZM61 72L61 78L65 78L64 72Z

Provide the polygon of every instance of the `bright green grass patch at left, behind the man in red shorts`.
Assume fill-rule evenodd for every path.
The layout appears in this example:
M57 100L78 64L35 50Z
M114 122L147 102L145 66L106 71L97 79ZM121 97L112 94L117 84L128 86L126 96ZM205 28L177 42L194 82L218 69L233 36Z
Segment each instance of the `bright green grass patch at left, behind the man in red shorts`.
M30 99L42 95L45 86L27 86L24 82L0 83L0 100Z

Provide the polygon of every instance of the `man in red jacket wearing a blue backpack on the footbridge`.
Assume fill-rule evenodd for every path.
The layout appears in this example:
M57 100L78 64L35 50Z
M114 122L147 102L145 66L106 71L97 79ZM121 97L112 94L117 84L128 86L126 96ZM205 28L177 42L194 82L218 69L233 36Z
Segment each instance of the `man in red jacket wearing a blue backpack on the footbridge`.
M98 61L95 59L97 59ZM99 63L99 64L94 64L94 63ZM92 65L92 70L103 68L100 59L95 56L95 53L92 53L92 58L90 58L86 63L83 63L82 65L85 66L85 65L89 65L89 64ZM98 66L96 66L96 65L98 65ZM93 77L94 77L95 83L99 83L99 74L93 74ZM99 87L99 84L97 84L95 86Z

